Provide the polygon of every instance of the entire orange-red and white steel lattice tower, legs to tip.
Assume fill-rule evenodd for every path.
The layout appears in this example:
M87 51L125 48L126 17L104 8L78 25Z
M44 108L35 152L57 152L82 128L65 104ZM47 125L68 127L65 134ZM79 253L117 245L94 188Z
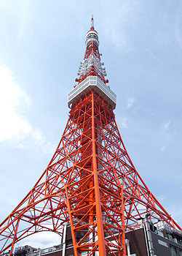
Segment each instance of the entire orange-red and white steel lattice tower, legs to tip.
M87 32L78 85L68 94L66 128L35 186L1 222L1 253L26 236L70 222L74 255L126 255L125 231L151 221L181 227L151 194L135 170L114 118L116 94L106 85L98 33ZM80 240L76 239L82 233ZM95 254L97 252L97 254Z

